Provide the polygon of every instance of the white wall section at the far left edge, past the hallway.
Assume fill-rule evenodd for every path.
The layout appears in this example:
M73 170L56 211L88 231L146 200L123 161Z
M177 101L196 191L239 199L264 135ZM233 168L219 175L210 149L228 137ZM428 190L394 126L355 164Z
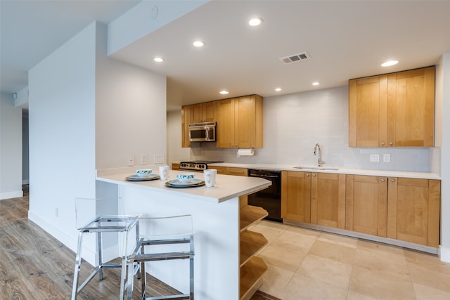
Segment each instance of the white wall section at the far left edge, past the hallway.
M22 108L0 95L0 200L22 197Z

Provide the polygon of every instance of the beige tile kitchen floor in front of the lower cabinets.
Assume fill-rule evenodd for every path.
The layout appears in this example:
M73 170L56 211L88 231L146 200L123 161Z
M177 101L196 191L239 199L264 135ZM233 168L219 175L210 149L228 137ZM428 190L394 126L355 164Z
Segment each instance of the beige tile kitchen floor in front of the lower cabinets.
M378 242L261 221L262 292L289 299L450 299L450 263Z

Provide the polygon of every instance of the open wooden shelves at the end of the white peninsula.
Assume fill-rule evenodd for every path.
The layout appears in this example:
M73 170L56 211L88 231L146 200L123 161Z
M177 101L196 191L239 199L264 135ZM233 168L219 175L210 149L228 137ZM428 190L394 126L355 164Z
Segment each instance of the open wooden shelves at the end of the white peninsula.
M266 263L256 256L267 240L261 233L248 230L248 226L268 216L261 207L247 205L241 200L240 207L240 300L248 300L262 285L262 275L267 270Z

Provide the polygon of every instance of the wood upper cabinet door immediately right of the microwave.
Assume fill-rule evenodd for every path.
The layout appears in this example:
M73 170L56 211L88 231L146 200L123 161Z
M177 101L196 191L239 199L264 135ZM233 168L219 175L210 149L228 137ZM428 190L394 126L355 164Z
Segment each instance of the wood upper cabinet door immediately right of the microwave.
M234 100L220 100L217 105L217 148L234 148Z

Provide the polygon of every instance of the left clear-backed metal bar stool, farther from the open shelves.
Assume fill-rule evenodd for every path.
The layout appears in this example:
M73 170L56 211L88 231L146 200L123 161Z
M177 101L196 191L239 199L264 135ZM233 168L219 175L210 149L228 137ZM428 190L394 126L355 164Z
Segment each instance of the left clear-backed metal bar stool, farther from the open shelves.
M124 298L125 277L127 274L127 244L128 235L131 230L135 229L135 237L139 236L139 216L127 216L123 214L122 199L88 199L75 198L75 218L78 229L77 254L75 256L75 271L72 287L72 300L77 299L79 292L86 284L94 278L98 273L98 279L103 280L103 268L122 268L120 275L120 296ZM96 234L96 260L98 261L94 271L78 286L79 270L82 266L82 247L83 236L85 233ZM121 258L120 263L103 263L102 240L104 233L117 233L117 241L113 241L119 246L118 256ZM122 239L120 238L122 235ZM122 249L121 249L122 248ZM134 273L138 273L139 264L133 266ZM139 276L140 277L140 276Z

